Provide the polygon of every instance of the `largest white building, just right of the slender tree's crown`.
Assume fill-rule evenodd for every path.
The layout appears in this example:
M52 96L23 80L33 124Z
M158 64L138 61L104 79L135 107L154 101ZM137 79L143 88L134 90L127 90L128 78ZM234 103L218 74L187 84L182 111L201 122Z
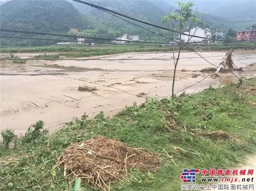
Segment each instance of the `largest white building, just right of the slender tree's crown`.
M189 35L194 35L194 36L199 36L199 37L211 39L211 32L207 28L202 29L202 28L199 28L199 27L195 27L195 28L191 29L190 32L184 32L184 33L189 34ZM181 40L183 40L185 43L189 41L191 43L209 44L209 42L210 42L209 39L191 37L191 36L184 35L184 34L181 35Z

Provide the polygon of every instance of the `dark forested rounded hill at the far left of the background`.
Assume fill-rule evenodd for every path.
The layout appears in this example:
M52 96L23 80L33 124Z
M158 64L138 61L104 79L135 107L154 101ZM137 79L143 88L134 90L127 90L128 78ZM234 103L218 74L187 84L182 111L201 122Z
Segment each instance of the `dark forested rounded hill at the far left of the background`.
M2 4L0 12L1 28L64 33L90 27L66 0L12 0Z

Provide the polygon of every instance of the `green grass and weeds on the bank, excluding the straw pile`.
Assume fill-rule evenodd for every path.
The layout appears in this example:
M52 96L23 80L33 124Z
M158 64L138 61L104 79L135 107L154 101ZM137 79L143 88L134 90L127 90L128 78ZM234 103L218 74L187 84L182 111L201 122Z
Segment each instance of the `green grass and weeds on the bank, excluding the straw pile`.
M250 82L256 85L256 79ZM71 191L69 182L63 178L62 167L56 169L54 177L50 170L70 143L103 135L132 147L158 152L164 163L152 174L130 170L128 179L122 185L113 186L113 191L179 191L183 168L231 168L244 162L245 155L255 153L256 96L246 93L248 89L248 85L238 88L238 84L230 84L216 89L209 87L174 100L148 98L142 105L128 106L113 118L105 117L102 112L92 120L84 115L54 134L30 136L30 143L24 141L25 136L16 142L15 148L0 149L0 160L18 160L0 163L0 190ZM241 142L198 134L219 130ZM183 150L179 152L174 147ZM84 183L82 187L84 191L92 190Z

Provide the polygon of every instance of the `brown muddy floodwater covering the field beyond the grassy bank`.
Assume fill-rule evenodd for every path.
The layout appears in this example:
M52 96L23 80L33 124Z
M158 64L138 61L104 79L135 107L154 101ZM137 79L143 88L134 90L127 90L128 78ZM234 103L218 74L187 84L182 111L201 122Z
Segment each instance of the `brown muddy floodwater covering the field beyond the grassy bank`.
M225 56L225 52L200 54L217 66ZM256 53L234 52L233 61L237 67L246 68L256 62ZM182 53L175 92L204 79L208 74L200 70L208 67L214 66L196 53ZM12 128L19 135L39 119L53 130L83 113L93 117L104 111L112 116L126 105L144 102L147 96L169 95L174 64L172 53L126 53L79 61L1 61L0 69L0 130ZM256 76L256 71L250 68L236 74L246 78ZM185 91L196 93L209 85L218 87L232 80L232 74L209 76ZM78 91L79 86L86 85L95 86L96 90Z

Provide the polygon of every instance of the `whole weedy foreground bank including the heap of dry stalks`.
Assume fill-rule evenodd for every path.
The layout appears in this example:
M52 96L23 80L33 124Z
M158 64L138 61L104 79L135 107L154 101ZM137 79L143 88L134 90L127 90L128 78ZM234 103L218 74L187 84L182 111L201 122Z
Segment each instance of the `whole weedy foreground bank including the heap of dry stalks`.
M249 82L256 85L256 79ZM71 191L75 177L91 172L92 181L82 179L83 190L109 187L109 179L114 180L111 173L122 180L111 181L113 191L178 191L184 167L230 168L244 162L246 154L255 152L256 96L245 92L249 87L243 82L232 83L175 99L148 98L141 105L126 107L113 118L102 112L91 120L86 115L75 118L49 135L41 128L42 122L36 123L13 148L0 147L0 190ZM141 157L139 152L136 154L140 159L128 158L139 150L153 156L147 158L153 161L151 169L132 167L132 163L143 167L146 155ZM120 173L125 177L114 174L112 168L122 169ZM70 174L72 171L74 174Z

